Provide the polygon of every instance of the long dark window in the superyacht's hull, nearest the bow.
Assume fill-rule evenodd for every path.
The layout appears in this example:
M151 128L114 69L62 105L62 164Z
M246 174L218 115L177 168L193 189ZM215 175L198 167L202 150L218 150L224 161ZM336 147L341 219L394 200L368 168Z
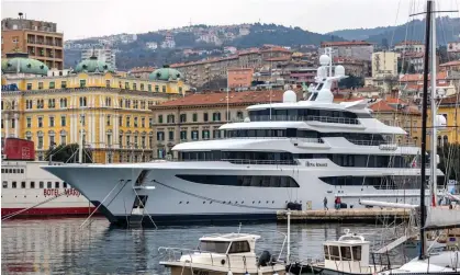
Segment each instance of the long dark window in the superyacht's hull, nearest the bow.
M251 187L299 187L299 183L285 175L215 175L215 174L178 174L184 181L226 186Z

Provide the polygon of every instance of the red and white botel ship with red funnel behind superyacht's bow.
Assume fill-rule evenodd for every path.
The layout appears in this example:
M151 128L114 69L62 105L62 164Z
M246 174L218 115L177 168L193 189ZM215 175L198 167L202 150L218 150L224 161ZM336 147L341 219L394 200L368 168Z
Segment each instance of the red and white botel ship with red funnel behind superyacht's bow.
M33 141L1 140L1 217L89 215L93 205L77 190L41 169ZM54 163L60 165L63 163Z

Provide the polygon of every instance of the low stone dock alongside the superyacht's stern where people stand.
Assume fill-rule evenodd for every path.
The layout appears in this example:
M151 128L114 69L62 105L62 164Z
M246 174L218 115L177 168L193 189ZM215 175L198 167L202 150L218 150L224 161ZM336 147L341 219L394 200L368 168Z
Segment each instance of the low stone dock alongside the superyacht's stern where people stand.
M291 210L291 222L371 222L374 224L383 218L404 220L408 219L409 209L379 208L379 209L329 209L329 210ZM279 222L287 222L285 210L277 213Z

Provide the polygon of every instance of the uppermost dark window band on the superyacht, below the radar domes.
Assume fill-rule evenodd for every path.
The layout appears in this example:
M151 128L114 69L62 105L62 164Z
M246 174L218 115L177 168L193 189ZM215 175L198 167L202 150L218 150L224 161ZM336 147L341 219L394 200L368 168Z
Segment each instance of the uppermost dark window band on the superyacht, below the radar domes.
M315 110L315 108L266 108L258 111L249 111L251 122L262 121L308 121L313 117L332 117L332 118L370 118L370 114L356 114L347 111L334 110Z

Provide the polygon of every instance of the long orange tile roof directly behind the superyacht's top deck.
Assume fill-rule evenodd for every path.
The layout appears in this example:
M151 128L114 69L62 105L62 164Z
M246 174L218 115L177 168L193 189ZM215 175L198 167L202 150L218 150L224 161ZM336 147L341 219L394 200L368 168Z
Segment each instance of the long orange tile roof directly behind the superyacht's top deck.
M229 104L259 104L270 102L281 102L284 91L245 91L245 92L229 92ZM298 98L302 94L298 92ZM227 104L226 92L206 92L194 93L182 99L167 101L161 104L153 106L153 108L161 107L179 107L179 106L197 106L197 105L225 105Z

